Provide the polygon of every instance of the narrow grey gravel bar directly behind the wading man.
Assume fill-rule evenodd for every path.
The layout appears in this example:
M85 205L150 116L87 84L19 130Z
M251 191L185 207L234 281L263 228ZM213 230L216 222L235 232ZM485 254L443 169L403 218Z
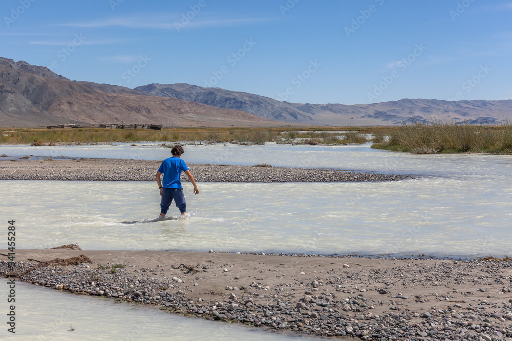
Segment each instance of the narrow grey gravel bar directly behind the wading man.
M160 161L87 158L77 160L0 161L0 180L155 181ZM188 164L196 181L272 183L287 181L397 181L407 175L331 169L286 168L269 165L228 166ZM182 181L188 181L182 173Z

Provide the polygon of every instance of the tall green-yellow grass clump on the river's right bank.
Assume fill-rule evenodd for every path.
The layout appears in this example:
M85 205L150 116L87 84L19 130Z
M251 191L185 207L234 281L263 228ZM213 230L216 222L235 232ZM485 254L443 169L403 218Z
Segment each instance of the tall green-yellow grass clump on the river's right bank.
M374 133L372 148L413 154L497 153L512 154L512 124L501 126L404 125Z

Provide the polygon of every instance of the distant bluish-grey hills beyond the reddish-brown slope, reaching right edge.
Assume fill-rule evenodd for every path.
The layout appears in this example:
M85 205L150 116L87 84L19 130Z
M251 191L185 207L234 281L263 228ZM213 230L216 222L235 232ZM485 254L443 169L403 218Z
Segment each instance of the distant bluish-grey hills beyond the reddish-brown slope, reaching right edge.
M442 101L403 99L373 104L302 104L280 102L268 97L201 87L186 83L148 84L139 92L185 99L219 108L231 108L259 117L298 124L314 125L393 125L444 120L468 124L498 124L512 118L512 100Z

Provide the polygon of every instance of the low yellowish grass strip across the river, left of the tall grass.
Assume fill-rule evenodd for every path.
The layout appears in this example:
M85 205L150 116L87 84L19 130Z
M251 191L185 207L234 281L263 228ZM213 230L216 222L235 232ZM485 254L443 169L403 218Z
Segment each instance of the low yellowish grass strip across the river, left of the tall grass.
M341 131L352 130L346 134ZM184 143L238 143L241 145L266 142L305 144L365 143L360 128L173 128L148 129L18 129L6 128L0 135L0 144L56 144L108 142L184 142ZM337 132L339 131L339 132Z

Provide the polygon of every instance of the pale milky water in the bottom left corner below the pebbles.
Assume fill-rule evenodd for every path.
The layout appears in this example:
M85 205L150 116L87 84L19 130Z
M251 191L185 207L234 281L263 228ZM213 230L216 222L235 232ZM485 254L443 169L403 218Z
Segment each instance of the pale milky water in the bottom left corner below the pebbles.
M7 298L7 280L0 281L0 295ZM155 307L115 304L112 299L62 293L26 283L16 283L15 291L15 334L7 331L8 304L5 300L0 305L4 316L0 330L2 340L313 339L179 316Z

